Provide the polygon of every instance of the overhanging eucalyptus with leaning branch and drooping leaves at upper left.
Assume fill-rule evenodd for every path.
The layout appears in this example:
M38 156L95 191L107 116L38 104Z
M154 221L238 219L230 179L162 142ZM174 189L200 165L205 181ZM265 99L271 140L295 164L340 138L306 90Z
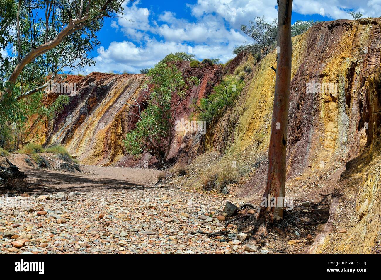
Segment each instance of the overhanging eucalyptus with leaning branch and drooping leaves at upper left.
M41 106L50 79L95 63L88 53L99 45L97 32L104 18L123 14L123 2L0 0L0 130Z

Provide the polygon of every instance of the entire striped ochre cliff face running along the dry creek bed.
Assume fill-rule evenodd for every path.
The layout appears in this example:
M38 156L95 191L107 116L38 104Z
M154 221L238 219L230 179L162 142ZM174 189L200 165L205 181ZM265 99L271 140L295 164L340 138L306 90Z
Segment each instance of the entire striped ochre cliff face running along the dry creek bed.
M346 253L379 250L380 225L380 33L381 19L321 22L293 38L291 96L288 117L288 186L311 189L319 197L324 189L331 205L330 220L317 237L313 252L333 247ZM207 96L221 73L232 73L249 63L251 73L237 104L200 134L176 134L170 157L184 155L188 163L206 148L222 152L231 145L255 171L242 184L240 195L256 201L263 194L267 168L272 103L275 89L276 52L258 63L240 54L224 69L190 68L182 62L184 76L195 75L201 84L182 104L178 117L189 116L194 99ZM131 108L123 102L139 98L145 75L92 73L70 76L77 94L53 122L38 128L43 144L63 144L85 164L141 166L123 151L124 134L133 128ZM315 90L311 85L334 85ZM337 86L337 90L336 87ZM47 94L46 104L56 96ZM323 198L322 198L323 199ZM344 210L345 211L344 211ZM335 222L333 223L333 219ZM336 225L335 225L336 224ZM351 225L346 235L328 233Z

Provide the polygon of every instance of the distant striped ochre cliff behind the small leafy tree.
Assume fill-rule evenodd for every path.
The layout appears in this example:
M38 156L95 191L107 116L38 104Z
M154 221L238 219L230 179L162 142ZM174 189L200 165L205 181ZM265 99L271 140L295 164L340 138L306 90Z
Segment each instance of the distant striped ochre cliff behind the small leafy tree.
M176 66L184 73L184 78L200 79L200 85L187 94L176 115L176 119L187 120L194 110L192 102L199 102L213 89L221 66L199 69L189 67L189 62L178 62ZM29 120L31 138L28 140L66 146L81 163L88 165L142 166L146 160L155 163L155 158L149 154L138 159L126 155L123 144L125 134L138 120L128 114L136 114L136 107L126 103L134 104L134 98L141 101L145 81L145 74L69 75L65 82L76 83L75 96L70 96L70 103L53 121ZM58 93L46 93L44 103L48 106L57 96ZM197 153L201 140L199 132L174 131L168 159Z

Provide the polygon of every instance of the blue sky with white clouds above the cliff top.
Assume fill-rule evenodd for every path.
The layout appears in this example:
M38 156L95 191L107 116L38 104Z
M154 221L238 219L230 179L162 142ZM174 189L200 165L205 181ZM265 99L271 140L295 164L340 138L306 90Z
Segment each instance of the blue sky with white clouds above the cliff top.
M276 0L134 0L123 6L123 16L106 19L98 34L101 45L90 53L97 63L85 72L139 73L177 51L226 62L234 46L251 42L241 24L277 17ZM294 0L292 23L350 19L352 10L381 16L381 0Z

